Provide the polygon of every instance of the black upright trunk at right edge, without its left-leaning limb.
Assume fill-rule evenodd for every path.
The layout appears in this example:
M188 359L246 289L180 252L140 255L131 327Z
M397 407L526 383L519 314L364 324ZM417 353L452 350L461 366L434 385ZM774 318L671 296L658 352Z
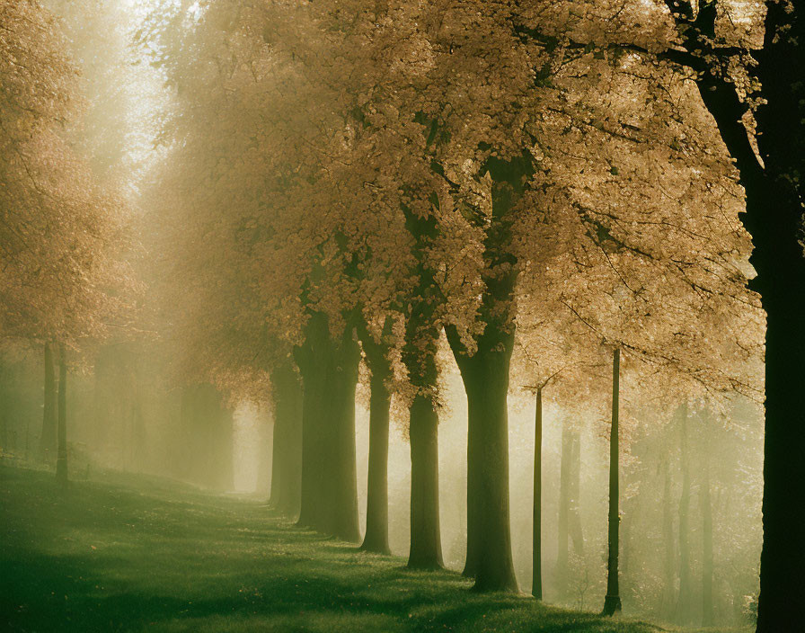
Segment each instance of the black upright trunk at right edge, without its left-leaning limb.
M805 12L767 3L758 76L768 104L756 114L765 163L762 183L743 183L755 243L753 287L766 311L763 551L758 633L805 629ZM791 28L789 32L780 32ZM754 55L754 52L753 52ZM791 73L781 68L798 69ZM795 77L796 76L796 77ZM796 80L795 80L796 79ZM739 164L740 166L740 164ZM756 186L759 185L759 186ZM765 186L764 186L765 185Z

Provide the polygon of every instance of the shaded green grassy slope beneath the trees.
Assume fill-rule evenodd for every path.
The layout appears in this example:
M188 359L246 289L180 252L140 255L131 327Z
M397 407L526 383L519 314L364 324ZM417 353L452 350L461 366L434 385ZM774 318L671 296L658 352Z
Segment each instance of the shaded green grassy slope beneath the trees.
M119 473L60 493L50 473L0 465L4 631L676 630L471 593L461 575L404 563L253 499Z

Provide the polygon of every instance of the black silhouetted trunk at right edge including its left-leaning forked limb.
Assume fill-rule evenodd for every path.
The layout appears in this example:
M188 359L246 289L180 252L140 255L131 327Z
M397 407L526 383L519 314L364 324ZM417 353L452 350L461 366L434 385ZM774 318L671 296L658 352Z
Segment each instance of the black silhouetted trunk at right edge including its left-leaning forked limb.
M756 159L743 124L750 111L728 73L730 49L713 46L719 3L667 0L679 27L678 63L695 71L699 94L739 169L747 195L744 225L755 245L751 287L766 311L763 550L757 633L801 630L805 604L805 433L800 389L805 384L805 84L782 68L805 67L805 11L799 3L768 2L763 49L752 50L765 104L753 112ZM716 59L708 63L708 57Z

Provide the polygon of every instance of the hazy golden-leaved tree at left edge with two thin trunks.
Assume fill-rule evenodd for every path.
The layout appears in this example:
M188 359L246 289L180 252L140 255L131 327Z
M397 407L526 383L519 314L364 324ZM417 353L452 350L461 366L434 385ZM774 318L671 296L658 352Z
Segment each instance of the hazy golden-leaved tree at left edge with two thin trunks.
M54 16L35 2L3 2L0 22L0 328L45 344L40 446L57 450L57 477L66 482L65 350L102 340L129 306L125 205L70 142L81 100ZM64 377L58 405L54 346Z

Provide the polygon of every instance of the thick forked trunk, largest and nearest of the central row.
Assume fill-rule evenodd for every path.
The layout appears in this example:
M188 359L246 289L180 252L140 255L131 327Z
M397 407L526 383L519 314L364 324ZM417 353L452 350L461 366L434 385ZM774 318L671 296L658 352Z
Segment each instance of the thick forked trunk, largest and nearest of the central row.
M516 328L517 256L511 250L512 211L534 174L532 157L490 156L491 217L479 214L483 238L484 327L472 354L454 325L445 328L467 394L467 562L479 591L517 592L509 526L509 363Z

